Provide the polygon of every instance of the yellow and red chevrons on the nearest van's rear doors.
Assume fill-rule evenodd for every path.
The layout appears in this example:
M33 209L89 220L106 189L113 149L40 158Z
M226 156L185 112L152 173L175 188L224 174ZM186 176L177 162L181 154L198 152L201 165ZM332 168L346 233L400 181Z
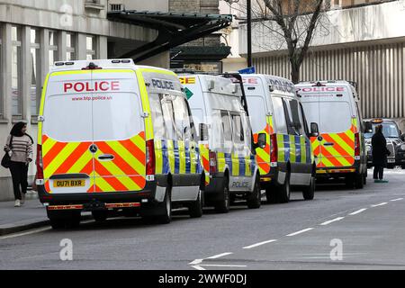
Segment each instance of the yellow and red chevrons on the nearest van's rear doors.
M144 188L146 152L143 131L131 139L95 141L98 150L94 155L88 149L92 144L90 141L58 142L44 135L44 178L63 174L89 175L89 193L139 191ZM113 159L99 160L98 157L103 154L111 154ZM46 181L45 187L50 193L49 181Z

